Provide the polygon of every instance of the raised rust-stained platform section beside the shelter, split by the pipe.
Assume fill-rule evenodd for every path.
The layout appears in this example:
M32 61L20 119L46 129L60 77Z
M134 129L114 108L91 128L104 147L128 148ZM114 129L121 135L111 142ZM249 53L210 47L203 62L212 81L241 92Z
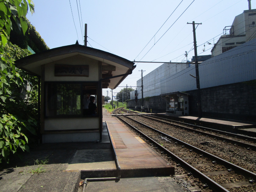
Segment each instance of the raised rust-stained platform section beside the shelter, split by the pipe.
M116 117L112 117L105 109L103 109L103 122L104 132L107 125L112 138L121 167L121 178L157 175L169 176L174 174L174 167L169 165L169 162L148 146L141 138L137 137L136 134ZM102 135L103 140L107 140L106 137L106 134ZM80 152L81 154L79 155ZM93 155L92 153L92 151L88 150L77 151L77 154L74 155L66 170L81 170L82 179L87 177L118 176L111 150L94 151L98 155ZM91 156L97 156L98 158L90 162ZM104 159L103 157L106 158Z

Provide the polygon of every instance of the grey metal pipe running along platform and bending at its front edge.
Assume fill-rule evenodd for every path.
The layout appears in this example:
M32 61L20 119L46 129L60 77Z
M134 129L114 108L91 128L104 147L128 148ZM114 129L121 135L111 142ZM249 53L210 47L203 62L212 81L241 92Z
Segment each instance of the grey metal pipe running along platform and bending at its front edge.
M114 148L114 145L113 145L110 133L109 133L107 122L105 121L105 123L106 123L106 127L107 127L107 130L108 130L108 137L109 137L109 140L110 140L110 143L111 143L111 146L112 146L112 150L113 150L113 153L115 155L115 163L116 163L116 169L118 171L118 176L117 177L86 178L83 182L82 192L85 192L85 188L87 186L88 181L111 181L111 180L120 180L120 178L121 178L121 167L120 167L119 161L117 159L116 150Z

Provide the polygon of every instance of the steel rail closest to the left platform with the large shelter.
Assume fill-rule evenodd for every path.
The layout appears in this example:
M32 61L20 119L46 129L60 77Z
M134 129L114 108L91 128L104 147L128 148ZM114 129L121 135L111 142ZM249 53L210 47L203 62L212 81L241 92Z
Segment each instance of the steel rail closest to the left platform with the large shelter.
M123 115L123 114L122 114ZM117 115L116 115L117 116ZM125 115L123 115L125 116ZM219 191L219 192L229 192L229 190L225 189L224 187L222 187L220 184L216 183L214 180L210 179L208 176L204 175L202 172L198 171L197 169L195 169L193 166L191 166L190 164L188 164L187 162L185 162L183 159L181 159L180 157L176 156L174 153L172 153L171 151L169 151L168 149L166 149L165 147L163 147L161 144L159 144L158 142L156 142L155 140L151 139L150 137L148 137L146 134L144 134L143 132L141 132L140 130L138 130L137 128L135 128L134 126L132 126L130 123L126 122L125 120L123 120L122 118L120 118L119 116L117 116L119 119L121 119L122 121L124 121L125 123L127 123L129 126L131 126L134 130L136 130L139 134L143 135L143 137L145 137L146 139L150 140L151 143L155 144L160 150L164 151L165 153L167 153L172 160L174 160L175 162L179 163L181 166L183 166L185 169L187 169L188 171L190 171L195 177L199 178L202 182L207 183L209 187L211 187L213 190L215 191ZM125 116L127 117L127 116ZM128 117L129 119L131 119L130 117ZM133 119L134 120L134 119ZM135 120L134 120L135 121ZM137 122L137 121L136 121ZM139 122L138 122L139 123ZM142 123L143 124L143 123ZM147 126L148 127L148 126ZM152 128L154 129L154 128Z

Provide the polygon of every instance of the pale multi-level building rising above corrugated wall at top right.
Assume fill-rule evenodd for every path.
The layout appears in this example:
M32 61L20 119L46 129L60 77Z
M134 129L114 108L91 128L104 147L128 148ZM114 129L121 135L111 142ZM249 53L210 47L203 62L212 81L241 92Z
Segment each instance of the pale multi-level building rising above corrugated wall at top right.
M236 16L232 26L223 29L223 35L212 48L212 57L240 46L256 37L256 9L244 10Z

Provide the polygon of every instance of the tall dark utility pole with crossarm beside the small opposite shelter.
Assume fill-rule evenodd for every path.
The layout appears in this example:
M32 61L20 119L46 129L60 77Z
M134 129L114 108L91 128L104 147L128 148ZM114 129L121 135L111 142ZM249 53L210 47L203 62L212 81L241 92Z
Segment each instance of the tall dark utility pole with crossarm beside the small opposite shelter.
M198 117L202 117L202 106L201 106L201 94L200 94L200 81L199 81L199 70L198 70L198 59L197 59L197 40L196 40L196 28L195 24L201 25L202 23L187 23L193 25L193 35L194 35L194 52L195 52L195 68L196 68L196 82L197 82L197 109Z

